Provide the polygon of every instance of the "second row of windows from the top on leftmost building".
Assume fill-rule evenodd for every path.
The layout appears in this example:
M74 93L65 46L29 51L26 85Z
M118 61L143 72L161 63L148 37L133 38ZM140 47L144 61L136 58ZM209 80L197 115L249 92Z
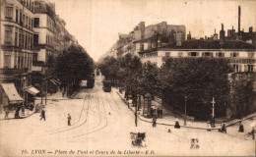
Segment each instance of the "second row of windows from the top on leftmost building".
M5 27L5 44L6 45L15 45L24 49L32 49L33 45L33 35L30 32L27 32L21 28L15 27L15 39L13 42L13 27Z

